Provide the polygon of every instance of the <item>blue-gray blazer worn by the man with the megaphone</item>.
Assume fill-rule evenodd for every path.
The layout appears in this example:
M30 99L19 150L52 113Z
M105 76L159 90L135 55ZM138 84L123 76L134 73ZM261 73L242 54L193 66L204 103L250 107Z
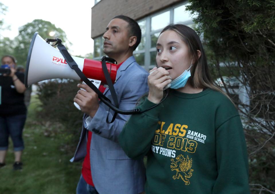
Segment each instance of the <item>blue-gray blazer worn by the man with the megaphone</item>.
M114 88L119 101L119 109L135 108L137 100L146 92L148 72L137 64L133 56L129 57L119 67ZM107 88L104 94L111 99ZM112 101L113 103L113 101ZM80 141L71 161L79 161L86 155L87 130L93 132L90 161L93 183L100 194L137 194L144 191L145 168L143 160L132 160L124 153L118 143L118 136L130 115L117 114L113 123L107 124L106 117L109 111L102 102L99 109L86 126L83 117L83 126ZM109 121L113 116L109 113Z

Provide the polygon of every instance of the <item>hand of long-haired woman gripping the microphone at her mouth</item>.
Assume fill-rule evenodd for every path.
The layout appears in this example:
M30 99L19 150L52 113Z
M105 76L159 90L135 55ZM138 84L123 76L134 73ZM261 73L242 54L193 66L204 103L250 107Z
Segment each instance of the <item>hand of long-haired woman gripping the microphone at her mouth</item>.
M159 67L159 68L154 67L150 71L150 73L151 74L148 75L148 86L149 86L148 100L157 104L163 98L163 88L169 83L171 83L172 78L169 76L169 72L162 67Z

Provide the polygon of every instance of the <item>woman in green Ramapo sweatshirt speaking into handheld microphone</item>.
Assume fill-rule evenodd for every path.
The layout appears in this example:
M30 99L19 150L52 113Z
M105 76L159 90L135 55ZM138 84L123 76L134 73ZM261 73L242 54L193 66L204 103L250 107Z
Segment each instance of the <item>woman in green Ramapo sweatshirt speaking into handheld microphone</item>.
M214 86L198 35L168 25L158 37L149 95L119 136L130 158L148 155L146 194L250 193L245 137L229 97ZM173 80L171 82L171 80Z

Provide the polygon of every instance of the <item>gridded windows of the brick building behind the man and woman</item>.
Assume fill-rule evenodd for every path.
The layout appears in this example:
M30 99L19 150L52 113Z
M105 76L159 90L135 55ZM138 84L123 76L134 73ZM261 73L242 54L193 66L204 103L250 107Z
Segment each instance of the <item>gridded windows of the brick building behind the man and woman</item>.
M191 28L196 27L188 11L185 11L186 3L174 5L158 13L149 15L138 21L142 31L142 38L139 46L133 52L133 55L142 67L147 71L156 66L156 43L162 29L168 24L180 23L188 25ZM97 37L94 39L94 59L99 60L104 55L103 39Z

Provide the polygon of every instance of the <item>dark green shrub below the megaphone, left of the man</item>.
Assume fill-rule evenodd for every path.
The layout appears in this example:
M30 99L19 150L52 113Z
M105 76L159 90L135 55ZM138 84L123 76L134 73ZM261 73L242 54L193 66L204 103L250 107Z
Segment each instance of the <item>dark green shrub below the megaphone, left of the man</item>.
M38 85L38 99L41 103L38 119L43 125L55 125L45 135L62 133L63 138L72 145L79 139L83 117L83 113L73 104L74 96L79 90L76 86L78 83L74 80L55 79Z

